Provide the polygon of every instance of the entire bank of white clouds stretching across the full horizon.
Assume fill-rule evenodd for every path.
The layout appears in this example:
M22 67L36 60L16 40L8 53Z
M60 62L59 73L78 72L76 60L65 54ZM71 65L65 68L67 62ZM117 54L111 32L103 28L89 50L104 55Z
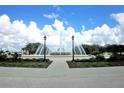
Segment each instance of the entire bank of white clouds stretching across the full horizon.
M77 32L71 26L65 27L64 22L57 19L53 24L46 24L39 29L33 21L27 26L23 20L11 22L7 15L1 15L0 48L11 51L20 50L30 42L43 43L44 35L47 36L47 45L52 49L59 47L61 43L67 51L71 49L72 35L75 36L75 44L124 44L124 13L111 16L118 22L115 27L111 28L109 25L103 24L86 31L85 26L82 25L81 32Z

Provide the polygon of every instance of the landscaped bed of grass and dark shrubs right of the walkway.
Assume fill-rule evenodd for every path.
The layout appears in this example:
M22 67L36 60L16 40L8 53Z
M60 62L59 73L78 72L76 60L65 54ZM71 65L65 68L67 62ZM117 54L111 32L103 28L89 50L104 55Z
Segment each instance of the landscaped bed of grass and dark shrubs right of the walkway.
M91 59L77 59L74 62L67 61L70 68L89 68L89 67L112 67L112 66L124 66L124 57L110 57L105 59L102 56Z

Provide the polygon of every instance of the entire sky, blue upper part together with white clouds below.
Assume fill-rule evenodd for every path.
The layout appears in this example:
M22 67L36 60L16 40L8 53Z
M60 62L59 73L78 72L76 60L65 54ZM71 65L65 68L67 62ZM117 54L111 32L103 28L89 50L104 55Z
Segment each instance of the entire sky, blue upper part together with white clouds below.
M60 31L68 48L72 35L77 44L124 44L124 5L0 6L2 49L16 51L27 43L43 43L44 35L48 45L59 46Z

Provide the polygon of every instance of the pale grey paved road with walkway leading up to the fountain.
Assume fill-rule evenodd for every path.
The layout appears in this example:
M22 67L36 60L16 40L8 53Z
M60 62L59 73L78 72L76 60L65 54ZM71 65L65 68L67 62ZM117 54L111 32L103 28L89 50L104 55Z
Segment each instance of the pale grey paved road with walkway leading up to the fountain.
M0 87L124 87L123 66L69 69L65 61L54 58L47 69L0 67Z

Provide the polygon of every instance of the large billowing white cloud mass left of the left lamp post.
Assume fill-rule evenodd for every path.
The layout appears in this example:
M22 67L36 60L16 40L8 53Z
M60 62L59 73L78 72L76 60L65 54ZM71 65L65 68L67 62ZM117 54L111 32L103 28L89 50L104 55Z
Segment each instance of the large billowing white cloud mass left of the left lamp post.
M36 23L31 22L27 27L23 21L10 22L7 15L0 16L0 48L18 51L29 42L36 42L41 37Z

